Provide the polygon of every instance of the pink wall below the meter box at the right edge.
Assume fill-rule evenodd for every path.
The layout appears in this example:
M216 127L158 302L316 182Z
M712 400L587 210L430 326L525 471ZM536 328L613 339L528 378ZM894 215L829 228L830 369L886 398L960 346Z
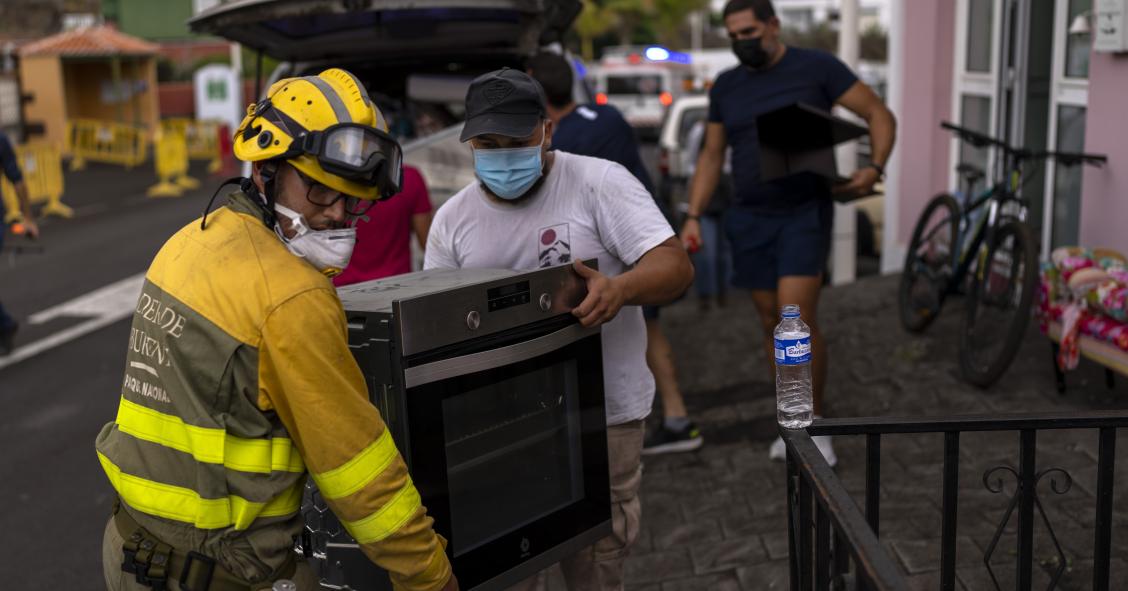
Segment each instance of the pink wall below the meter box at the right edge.
M1128 55L1094 53L1089 65L1085 151L1104 153L1103 168L1082 177L1081 244L1128 254Z

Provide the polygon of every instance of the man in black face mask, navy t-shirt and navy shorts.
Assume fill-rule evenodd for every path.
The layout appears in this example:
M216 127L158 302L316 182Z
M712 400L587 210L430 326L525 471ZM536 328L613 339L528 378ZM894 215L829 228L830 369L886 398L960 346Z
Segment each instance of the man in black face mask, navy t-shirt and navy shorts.
M732 148L733 206L725 219L732 245L733 285L752 290L764 327L768 370L775 379L773 330L783 306L800 306L811 327L814 412L822 409L827 353L816 323L822 272L834 222L832 192L869 194L884 173L896 122L881 99L837 58L779 42L779 19L770 0L729 0L724 26L741 65L717 77L710 91L705 147L689 193L682 240L700 244L698 217L713 194L725 148ZM756 118L795 103L829 111L841 105L870 126L873 165L830 187L813 174L763 180ZM837 461L828 438L814 438L827 461ZM782 439L770 457L782 460Z

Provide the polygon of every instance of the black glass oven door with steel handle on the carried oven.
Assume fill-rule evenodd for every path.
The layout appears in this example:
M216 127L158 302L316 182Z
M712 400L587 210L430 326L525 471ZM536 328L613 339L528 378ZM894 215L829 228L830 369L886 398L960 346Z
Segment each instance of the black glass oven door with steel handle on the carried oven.
M405 372L413 478L467 589L532 574L609 519L599 334L540 330Z

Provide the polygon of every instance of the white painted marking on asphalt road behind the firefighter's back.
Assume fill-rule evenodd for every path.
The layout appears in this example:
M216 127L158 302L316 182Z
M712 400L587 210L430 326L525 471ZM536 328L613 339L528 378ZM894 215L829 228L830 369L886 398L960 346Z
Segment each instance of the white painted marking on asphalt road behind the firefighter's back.
M28 323L33 325L43 324L64 316L90 318L34 343L17 346L8 356L0 358L0 369L15 365L20 361L34 358L39 353L64 345L76 338L129 318L136 307L138 297L141 294L141 285L143 283L144 273L139 273L68 302L33 314L28 318Z

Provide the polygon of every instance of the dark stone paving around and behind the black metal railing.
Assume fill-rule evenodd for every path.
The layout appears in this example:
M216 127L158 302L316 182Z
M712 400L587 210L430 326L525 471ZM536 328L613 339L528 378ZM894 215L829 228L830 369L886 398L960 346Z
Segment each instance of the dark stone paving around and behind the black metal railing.
M962 382L957 330L962 301L924 335L900 328L897 277L874 277L829 289L820 318L831 355L827 415L941 416L1032 411L1081 412L1123 408L1128 380L1105 387L1103 369L1082 362L1058 396L1048 342L1031 323L1014 364L995 387ZM633 591L787 589L785 477L767 459L775 436L774 383L768 380L760 333L747 297L730 296L724 309L699 312L687 299L663 310L662 324L678 359L679 379L705 446L697 452L647 458L643 529L627 562ZM655 417L659 415L655 412ZM1112 588L1128 581L1128 439L1117 461L1113 504ZM1060 467L1073 486L1061 495L1049 478L1039 487L1060 541L1067 571L1058 589L1092 588L1096 432L1040 432L1038 467ZM1003 518L1013 479L1003 493L984 486L985 470L1014 466L1015 432L961 436L957 546L959 589L994 589L984 553ZM839 438L836 471L861 503L864 439ZM941 529L940 434L887 435L882 440L881 539L913 589L938 589ZM1060 478L1059 478L1060 480ZM1058 483L1060 486L1063 483ZM1003 589L1014 588L1015 518L992 557ZM1046 528L1034 528L1034 586L1046 589L1057 558ZM558 576L549 589L563 589Z

